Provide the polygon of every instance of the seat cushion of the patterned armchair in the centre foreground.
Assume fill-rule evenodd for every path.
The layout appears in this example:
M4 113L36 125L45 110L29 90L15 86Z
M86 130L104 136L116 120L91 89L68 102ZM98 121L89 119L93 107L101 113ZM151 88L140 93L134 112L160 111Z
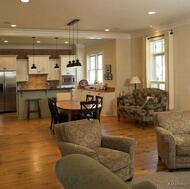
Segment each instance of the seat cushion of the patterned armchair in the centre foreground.
M131 164L128 153L102 147L94 148L93 150L96 152L99 162L112 172Z

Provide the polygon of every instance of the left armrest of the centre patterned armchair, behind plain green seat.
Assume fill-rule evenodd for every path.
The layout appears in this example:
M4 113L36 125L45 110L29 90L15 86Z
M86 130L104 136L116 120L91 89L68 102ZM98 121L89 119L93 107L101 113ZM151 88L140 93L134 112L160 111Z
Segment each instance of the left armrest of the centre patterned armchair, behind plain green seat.
M99 161L95 151L85 146L80 146L73 143L58 142L58 148L61 151L62 156L69 154L83 154Z

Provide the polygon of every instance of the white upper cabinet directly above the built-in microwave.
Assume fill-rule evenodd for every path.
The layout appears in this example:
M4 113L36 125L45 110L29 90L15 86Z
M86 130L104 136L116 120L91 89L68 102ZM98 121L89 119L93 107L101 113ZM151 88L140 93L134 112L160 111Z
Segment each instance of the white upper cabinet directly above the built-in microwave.
M76 68L67 68L69 62L69 55L62 55L61 58L61 75L75 75ZM73 60L73 56L70 56L70 60Z

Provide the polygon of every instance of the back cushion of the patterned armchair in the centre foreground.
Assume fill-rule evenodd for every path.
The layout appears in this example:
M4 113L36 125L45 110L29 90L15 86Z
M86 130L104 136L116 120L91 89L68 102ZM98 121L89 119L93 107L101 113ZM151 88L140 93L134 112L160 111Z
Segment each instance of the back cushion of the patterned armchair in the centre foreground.
M88 148L101 145L101 127L98 120L70 121L61 127L61 135L65 142L78 144Z

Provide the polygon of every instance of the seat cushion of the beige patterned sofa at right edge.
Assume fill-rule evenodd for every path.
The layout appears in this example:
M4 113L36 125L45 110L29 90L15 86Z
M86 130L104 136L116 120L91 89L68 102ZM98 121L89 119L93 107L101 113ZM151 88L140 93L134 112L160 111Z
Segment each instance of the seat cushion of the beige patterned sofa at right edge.
M190 135L174 135L176 142L176 153L179 156L190 156Z

